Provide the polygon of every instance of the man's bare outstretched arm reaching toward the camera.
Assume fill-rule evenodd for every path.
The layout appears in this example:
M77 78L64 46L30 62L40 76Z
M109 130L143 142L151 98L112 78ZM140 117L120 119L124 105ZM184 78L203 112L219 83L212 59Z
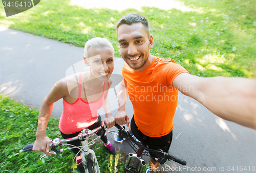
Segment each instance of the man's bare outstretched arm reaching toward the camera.
M256 129L256 80L181 73L173 86L217 116Z

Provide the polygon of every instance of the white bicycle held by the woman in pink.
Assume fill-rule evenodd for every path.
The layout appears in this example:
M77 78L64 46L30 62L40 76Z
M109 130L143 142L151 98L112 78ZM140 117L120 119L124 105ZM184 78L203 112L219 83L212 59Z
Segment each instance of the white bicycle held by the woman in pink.
M82 165L84 166L84 170L86 173L100 173L99 170L99 164L97 161L97 157L94 153L94 151L92 149L90 149L90 146L93 145L95 143L95 139L92 139L92 137L98 132L98 131L103 131L103 133L98 136L97 138L100 138L102 135L106 135L110 132L114 132L114 131L108 131L106 132L104 127L98 127L96 129L93 130L89 130L89 129L84 129L81 131L81 133L79 133L76 137L73 138L68 138L68 139L60 139L60 138L56 138L54 140L51 141L51 143L49 144L51 147L52 152L50 152L51 154L58 154L60 152L63 152L65 150L70 150L73 149L75 147L77 147L78 149L80 149L80 151L78 153L82 153L81 158L82 158ZM74 140L81 140L82 145L81 146L74 146L71 144L64 144L65 142L69 142L69 141L74 141ZM89 140L91 139L91 141L89 142ZM69 147L68 149L60 149L57 150L56 146L59 145L70 145L73 147ZM30 152L33 149L33 144L28 144L26 146L23 147L23 152ZM40 158L40 160L44 157L46 157L47 155L44 155ZM77 155L76 155L77 156ZM76 156L73 159L73 164L74 164L74 160L76 158ZM86 158L87 156L87 158ZM74 164L77 165L77 164Z

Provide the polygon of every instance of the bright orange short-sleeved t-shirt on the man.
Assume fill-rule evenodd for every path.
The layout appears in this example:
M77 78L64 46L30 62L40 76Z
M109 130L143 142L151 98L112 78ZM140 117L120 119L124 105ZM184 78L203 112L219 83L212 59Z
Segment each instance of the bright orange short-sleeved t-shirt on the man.
M173 59L155 56L141 72L124 63L122 75L133 104L134 120L146 136L160 137L172 131L178 103L178 89L173 87L173 80L183 72L187 70Z

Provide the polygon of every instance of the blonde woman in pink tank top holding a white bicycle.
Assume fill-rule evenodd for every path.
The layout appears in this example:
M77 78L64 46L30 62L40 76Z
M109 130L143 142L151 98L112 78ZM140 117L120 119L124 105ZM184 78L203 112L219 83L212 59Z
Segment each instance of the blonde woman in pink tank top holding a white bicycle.
M46 128L53 103L60 98L63 98L63 112L59 120L59 129L65 139L77 136L83 129L95 129L104 124L107 128L111 128L115 125L108 101L108 90L112 84L110 76L114 69L114 48L106 39L93 38L84 46L83 59L90 70L59 80L42 102L33 151L51 155L49 153L51 141L46 135ZM97 112L101 107L105 111L102 122ZM97 135L101 133L102 131ZM103 136L101 140L110 153L115 155L115 147L110 141ZM80 146L80 141L76 140L70 144ZM79 149L72 151L77 154ZM77 155L76 161L80 172L83 172L80 154Z

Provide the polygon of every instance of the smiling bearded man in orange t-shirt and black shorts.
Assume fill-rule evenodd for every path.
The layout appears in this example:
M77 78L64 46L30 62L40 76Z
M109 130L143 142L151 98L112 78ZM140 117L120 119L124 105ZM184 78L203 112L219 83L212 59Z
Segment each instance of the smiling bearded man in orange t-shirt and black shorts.
M131 130L136 138L146 137L149 147L168 152L178 90L217 116L256 129L256 80L201 78L189 75L172 59L151 55L153 36L148 20L138 13L123 16L116 32L120 54L126 63L122 69L120 107L115 120L119 125L129 126L130 119L125 112L129 94L134 109ZM154 172L159 163L150 158L150 166L153 168L150 172Z

